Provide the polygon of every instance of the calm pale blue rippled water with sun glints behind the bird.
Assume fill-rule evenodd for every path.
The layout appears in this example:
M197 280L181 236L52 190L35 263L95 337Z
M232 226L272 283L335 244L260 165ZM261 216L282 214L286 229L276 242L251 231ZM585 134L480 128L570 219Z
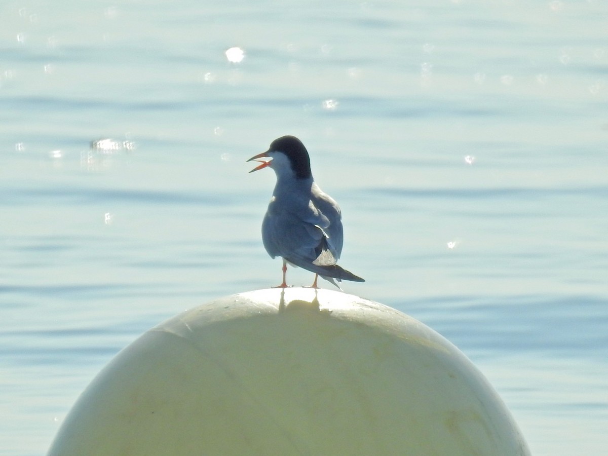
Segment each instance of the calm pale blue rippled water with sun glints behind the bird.
M460 347L533 454L607 454L607 17L599 0L3 2L0 453L43 454L151 326L278 283L274 174L244 161L295 134L367 279L345 290Z

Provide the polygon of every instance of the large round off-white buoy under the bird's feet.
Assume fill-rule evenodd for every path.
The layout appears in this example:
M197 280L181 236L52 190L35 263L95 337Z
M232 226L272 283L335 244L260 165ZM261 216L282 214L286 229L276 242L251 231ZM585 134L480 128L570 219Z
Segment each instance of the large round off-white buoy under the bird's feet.
M310 288L224 297L147 331L49 456L529 455L480 371L395 309Z

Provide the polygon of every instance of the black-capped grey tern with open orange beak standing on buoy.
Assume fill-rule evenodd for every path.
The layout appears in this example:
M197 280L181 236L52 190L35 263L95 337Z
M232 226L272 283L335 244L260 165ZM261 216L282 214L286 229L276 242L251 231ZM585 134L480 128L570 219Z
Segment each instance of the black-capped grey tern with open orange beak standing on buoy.
M269 158L270 160L263 160ZM287 264L314 272L312 288L319 276L333 283L351 280L365 282L337 265L344 240L340 206L314 182L310 157L302 141L282 136L272 141L266 152L247 162L260 165L249 171L272 168L277 183L262 222L262 241L272 257L283 258L283 282L274 288L286 288Z

